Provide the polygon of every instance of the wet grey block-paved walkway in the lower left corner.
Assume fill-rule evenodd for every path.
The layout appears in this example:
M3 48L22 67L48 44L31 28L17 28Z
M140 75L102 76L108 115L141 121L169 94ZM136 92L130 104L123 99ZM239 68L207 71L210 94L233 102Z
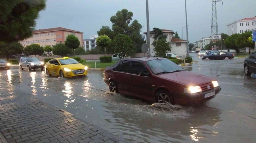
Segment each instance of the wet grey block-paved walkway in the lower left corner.
M0 143L126 142L24 90L0 80Z

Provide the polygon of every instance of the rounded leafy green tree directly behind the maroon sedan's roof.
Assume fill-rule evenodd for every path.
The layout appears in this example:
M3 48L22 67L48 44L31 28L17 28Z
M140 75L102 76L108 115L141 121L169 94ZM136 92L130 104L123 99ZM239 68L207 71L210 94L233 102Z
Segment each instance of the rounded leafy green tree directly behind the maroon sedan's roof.
M112 48L115 53L123 55L123 57L135 56L134 42L127 35L119 34L115 36Z

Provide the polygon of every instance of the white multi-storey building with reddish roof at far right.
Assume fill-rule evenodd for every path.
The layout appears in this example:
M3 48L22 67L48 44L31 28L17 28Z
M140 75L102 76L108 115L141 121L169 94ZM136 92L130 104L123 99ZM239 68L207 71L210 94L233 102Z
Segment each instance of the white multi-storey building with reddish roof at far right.
M256 16L254 18L244 18L227 25L227 35L244 33L256 28Z

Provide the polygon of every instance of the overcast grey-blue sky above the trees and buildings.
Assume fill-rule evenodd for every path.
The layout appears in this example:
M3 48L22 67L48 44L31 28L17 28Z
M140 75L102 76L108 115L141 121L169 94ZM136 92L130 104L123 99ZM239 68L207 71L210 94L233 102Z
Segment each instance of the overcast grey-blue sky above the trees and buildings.
M148 0L150 30L154 27L177 31L182 38L185 21L184 0ZM217 4L219 33L227 33L227 24L256 16L256 0L224 0ZM110 17L123 8L133 12L146 32L146 0L48 0L40 12L37 29L63 27L84 32L84 39L97 34L104 25L110 26ZM187 0L189 41L211 36L212 0ZM183 28L186 39L186 28Z

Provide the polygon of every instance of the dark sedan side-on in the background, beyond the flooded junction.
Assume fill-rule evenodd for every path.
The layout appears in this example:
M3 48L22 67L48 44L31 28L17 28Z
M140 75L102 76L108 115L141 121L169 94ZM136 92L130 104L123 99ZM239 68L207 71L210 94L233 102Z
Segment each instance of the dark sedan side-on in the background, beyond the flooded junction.
M233 59L234 54L230 54L227 52L215 52L211 55L206 55L202 57L202 60L228 60Z

